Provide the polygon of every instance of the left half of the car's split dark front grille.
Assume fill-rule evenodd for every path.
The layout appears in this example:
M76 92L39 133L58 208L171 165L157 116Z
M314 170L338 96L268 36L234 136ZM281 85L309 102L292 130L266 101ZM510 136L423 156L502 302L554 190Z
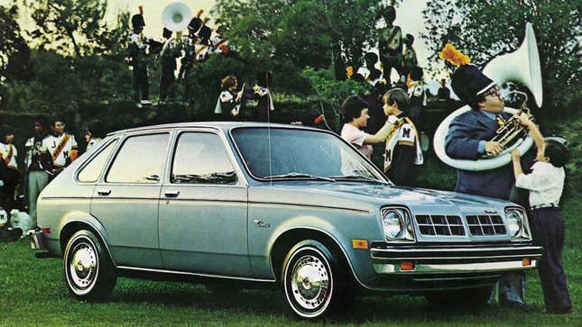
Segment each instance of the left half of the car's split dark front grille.
M417 214L416 224L423 236L464 236L461 217L444 214Z

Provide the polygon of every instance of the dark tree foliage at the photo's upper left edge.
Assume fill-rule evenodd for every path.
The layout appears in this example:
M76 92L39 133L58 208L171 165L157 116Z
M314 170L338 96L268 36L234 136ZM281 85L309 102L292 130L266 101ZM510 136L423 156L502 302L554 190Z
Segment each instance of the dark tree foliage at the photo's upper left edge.
M26 62L30 49L23 38L18 18L18 7L0 5L0 77L25 79Z

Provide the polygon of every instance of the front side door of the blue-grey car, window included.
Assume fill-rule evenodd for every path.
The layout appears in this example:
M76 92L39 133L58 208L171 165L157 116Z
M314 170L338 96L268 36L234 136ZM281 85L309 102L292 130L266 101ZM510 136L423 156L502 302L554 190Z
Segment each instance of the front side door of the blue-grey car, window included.
M249 273L247 187L217 132L176 135L160 203L166 268L226 276Z

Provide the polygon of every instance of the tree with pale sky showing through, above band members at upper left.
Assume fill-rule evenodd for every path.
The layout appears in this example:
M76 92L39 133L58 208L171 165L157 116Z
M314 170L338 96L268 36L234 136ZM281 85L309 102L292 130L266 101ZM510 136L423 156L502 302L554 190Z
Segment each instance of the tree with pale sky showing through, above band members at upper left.
M109 30L104 17L106 0L41 0L31 1L32 19L39 27L32 32L42 47L76 57L110 54L123 44L129 15L118 15L118 26Z

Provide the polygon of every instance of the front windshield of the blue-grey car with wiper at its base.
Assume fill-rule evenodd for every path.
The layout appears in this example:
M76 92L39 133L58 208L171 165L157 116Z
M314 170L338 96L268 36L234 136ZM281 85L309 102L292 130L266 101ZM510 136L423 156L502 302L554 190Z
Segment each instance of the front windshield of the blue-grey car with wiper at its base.
M387 182L356 150L328 132L237 128L232 135L250 173L259 179Z

